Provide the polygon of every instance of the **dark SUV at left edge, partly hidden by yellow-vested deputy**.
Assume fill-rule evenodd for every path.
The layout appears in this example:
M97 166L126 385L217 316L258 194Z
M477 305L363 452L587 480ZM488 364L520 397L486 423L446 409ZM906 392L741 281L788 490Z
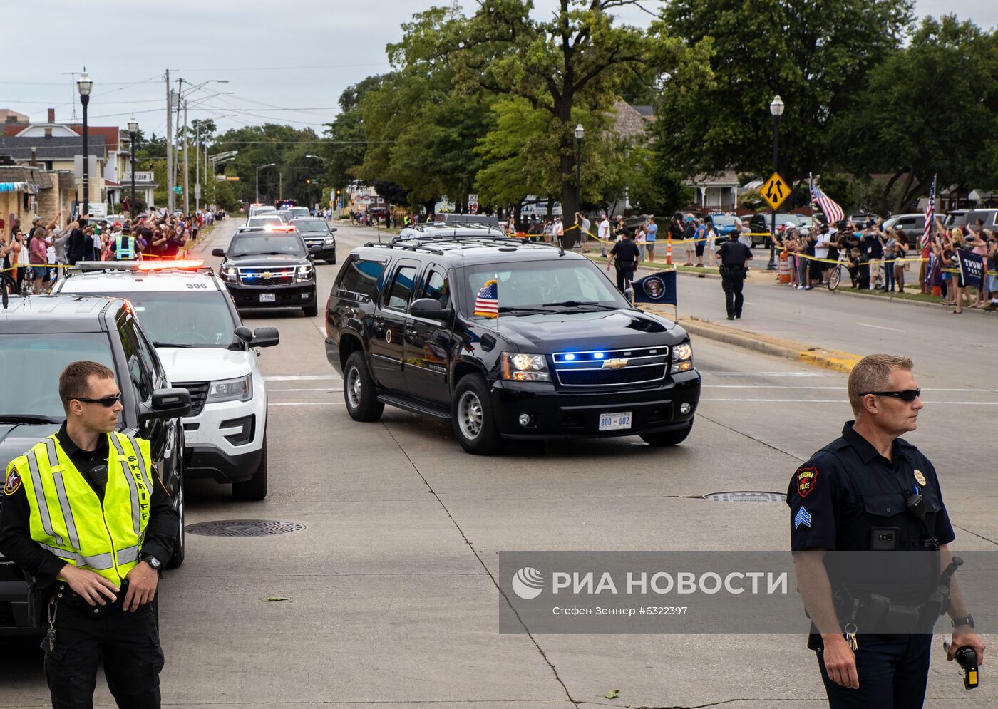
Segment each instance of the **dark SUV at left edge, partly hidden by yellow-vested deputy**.
M120 431L148 439L156 470L180 515L171 566L184 561L186 389L172 389L128 301L81 295L11 298L0 309L0 465L59 430L66 419L59 374L71 362L110 367L122 391ZM0 504L3 498L0 496ZM0 637L36 631L24 574L0 555Z

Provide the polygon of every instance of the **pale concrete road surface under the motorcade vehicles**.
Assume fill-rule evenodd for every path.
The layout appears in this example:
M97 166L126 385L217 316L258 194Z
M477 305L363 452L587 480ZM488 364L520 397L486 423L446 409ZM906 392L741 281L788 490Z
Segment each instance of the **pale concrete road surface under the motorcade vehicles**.
M223 224L200 250L225 246L234 226ZM374 230L340 227L337 236L341 261ZM336 268L318 267L323 298ZM723 313L718 281L684 276L680 288L681 312ZM910 440L940 472L953 546L994 549L998 392L988 321L897 304L881 312L866 299L775 286L750 287L748 299L746 329L916 357L926 407ZM801 636L500 635L496 580L498 552L507 549L785 548L785 505L701 496L785 491L799 462L851 418L844 375L697 339L705 388L684 445L515 444L478 458L440 422L391 408L376 424L351 421L325 360L321 310L316 318L246 315L250 327L275 325L281 336L260 353L270 492L264 502L237 504L228 490L192 483L188 522L279 520L306 529L189 535L186 563L161 586L165 705L825 706ZM857 321L898 332L860 330ZM988 342L991 349L973 349ZM45 706L33 643L4 650L0 706ZM964 706L967 697L998 706L990 663L981 687L965 695L941 658L939 650L926 706ZM606 699L612 689L619 698ZM113 706L103 683L97 699Z

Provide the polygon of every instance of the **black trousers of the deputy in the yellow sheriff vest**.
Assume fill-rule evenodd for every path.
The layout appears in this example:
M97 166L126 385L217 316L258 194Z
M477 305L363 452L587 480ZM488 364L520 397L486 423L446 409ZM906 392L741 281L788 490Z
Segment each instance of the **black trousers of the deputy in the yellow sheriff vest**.
M57 592L60 585L56 584ZM164 658L157 601L134 613L125 611L126 589L99 614L68 587L62 590L55 647L50 652L48 640L42 642L52 709L92 709L98 662L104 665L108 688L121 709L159 709Z

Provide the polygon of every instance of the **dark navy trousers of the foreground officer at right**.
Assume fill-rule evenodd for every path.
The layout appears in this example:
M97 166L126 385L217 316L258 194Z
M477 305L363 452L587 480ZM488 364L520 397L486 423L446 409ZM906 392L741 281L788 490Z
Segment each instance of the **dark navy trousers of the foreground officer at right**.
M929 677L931 635L857 635L859 689L828 679L824 658L817 664L830 709L921 709Z

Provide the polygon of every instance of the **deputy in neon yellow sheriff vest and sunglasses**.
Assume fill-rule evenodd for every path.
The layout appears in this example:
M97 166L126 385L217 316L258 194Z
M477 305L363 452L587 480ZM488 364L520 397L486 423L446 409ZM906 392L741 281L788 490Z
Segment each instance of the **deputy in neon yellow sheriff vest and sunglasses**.
M29 577L40 606L54 709L93 707L99 663L119 707L158 709L164 655L156 592L180 518L148 443L116 430L115 373L74 362L60 376L59 396L62 428L7 469L0 552ZM137 546L121 543L129 534ZM94 555L90 539L102 537L112 552Z

